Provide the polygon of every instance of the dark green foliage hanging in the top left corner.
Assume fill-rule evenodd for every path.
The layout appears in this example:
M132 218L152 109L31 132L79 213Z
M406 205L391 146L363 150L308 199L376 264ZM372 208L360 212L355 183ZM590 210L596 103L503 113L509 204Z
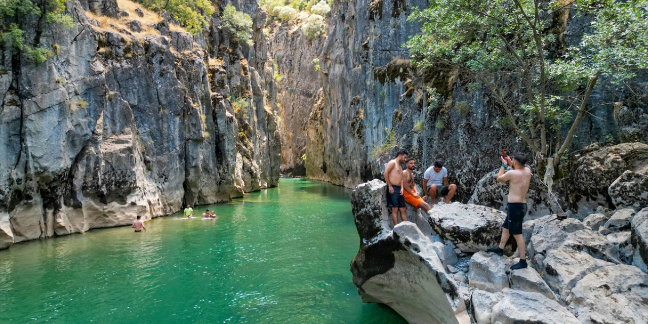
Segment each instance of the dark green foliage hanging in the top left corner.
M44 18L38 19L34 39L25 40L19 17ZM15 49L36 63L45 62L52 50L40 43L40 30L47 24L72 27L72 17L65 14L65 0L0 0L0 45L3 49Z

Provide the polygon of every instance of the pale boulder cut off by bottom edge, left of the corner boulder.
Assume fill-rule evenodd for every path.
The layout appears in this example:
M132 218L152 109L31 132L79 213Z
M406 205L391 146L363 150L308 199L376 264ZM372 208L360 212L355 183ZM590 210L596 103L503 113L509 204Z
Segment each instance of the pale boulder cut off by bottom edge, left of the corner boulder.
M503 295L492 307L491 323L580 324L567 308L537 292L505 288Z

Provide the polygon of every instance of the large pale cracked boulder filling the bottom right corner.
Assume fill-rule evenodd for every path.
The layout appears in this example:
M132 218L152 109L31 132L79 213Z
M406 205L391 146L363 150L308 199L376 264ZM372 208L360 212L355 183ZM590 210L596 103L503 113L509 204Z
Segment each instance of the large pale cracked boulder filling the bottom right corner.
M572 289L581 323L648 323L648 275L635 266L604 266Z

